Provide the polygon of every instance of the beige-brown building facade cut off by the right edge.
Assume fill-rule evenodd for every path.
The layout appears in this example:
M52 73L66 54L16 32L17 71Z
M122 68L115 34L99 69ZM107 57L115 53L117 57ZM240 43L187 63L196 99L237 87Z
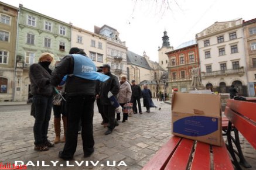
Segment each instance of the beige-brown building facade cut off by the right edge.
M256 18L244 22L244 48L248 92L250 96L256 96Z

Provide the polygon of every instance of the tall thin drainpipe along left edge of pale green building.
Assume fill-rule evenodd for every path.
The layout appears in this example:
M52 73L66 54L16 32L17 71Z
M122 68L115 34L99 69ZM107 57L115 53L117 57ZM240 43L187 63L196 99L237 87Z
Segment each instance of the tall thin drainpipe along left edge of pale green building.
M15 54L14 54L14 72L13 72L13 88L12 88L12 101L15 100L15 92L16 92L16 70L17 70L17 50L18 50L18 34L19 34L19 13L21 11L21 6L18 9L18 17L17 17L17 29L16 29L16 45L15 45Z

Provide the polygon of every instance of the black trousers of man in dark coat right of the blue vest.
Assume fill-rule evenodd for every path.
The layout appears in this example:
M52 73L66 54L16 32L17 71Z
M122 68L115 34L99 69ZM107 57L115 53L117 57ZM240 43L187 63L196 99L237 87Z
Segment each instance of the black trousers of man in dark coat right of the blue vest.
M103 112L108 117L108 128L113 130L117 120L115 120L115 107L112 105L103 105Z

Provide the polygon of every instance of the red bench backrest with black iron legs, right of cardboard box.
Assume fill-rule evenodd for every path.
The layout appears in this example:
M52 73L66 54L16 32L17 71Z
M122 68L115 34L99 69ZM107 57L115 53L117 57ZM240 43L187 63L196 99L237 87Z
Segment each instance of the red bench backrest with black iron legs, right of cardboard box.
M229 99L225 109L225 115L228 122L227 141L228 151L233 158L233 164L236 169L241 169L235 154L240 159L240 164L245 168L251 168L244 158L240 146L239 132L247 139L247 141L256 149L256 98L247 98L247 101ZM233 124L234 127L231 127ZM231 136L231 130L234 130L234 137ZM237 148L234 150L232 141Z

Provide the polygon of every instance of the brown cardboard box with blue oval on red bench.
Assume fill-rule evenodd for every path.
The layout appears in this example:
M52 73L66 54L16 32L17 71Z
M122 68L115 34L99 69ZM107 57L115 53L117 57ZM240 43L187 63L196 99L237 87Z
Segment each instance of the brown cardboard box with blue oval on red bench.
M221 146L220 96L173 93L172 134Z

